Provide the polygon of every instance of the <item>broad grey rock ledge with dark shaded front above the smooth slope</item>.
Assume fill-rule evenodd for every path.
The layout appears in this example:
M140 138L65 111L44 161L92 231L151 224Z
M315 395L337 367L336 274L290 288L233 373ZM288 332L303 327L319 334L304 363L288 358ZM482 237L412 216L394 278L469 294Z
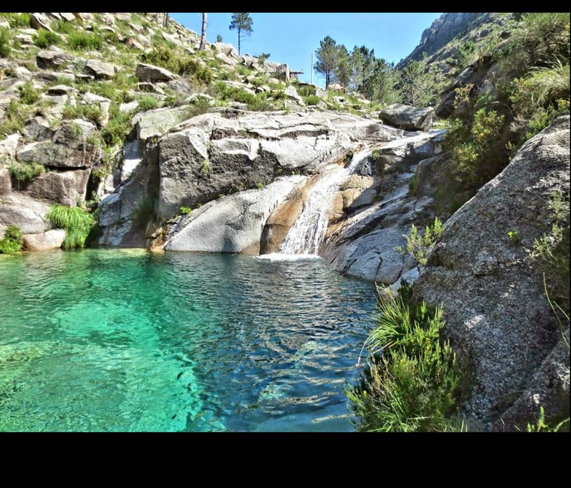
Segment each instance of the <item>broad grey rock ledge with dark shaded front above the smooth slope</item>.
M150 112L148 112L150 113ZM316 174L360 141L391 140L402 131L351 115L204 114L159 142L159 215L194 208L220 193L255 188L280 174Z

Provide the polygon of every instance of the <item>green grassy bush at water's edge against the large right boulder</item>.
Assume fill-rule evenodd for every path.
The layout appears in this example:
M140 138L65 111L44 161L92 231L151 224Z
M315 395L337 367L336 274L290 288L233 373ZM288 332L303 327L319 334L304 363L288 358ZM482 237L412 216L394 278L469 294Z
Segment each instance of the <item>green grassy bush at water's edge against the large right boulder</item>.
M380 291L367 366L345 390L361 431L458 431L467 363L440 339L443 310Z

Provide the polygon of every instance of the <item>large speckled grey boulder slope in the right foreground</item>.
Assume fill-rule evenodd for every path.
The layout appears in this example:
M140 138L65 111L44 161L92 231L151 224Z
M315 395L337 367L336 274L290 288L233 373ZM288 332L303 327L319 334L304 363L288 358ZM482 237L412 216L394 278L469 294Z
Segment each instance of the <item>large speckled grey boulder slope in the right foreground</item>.
M569 116L528 140L447 221L415 283L415 296L443 304L445 334L472 358L465 412L486 429L521 427L540 405L548 418L569 416L569 349L526 252L550 230L553 191L569 195Z

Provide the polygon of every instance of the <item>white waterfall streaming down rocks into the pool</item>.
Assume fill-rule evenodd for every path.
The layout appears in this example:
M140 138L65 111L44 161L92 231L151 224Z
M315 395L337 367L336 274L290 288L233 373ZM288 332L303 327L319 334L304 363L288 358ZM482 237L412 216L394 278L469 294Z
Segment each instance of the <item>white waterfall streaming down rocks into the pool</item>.
M317 180L307 193L303 211L286 235L279 252L288 255L317 255L319 245L327 232L329 211L341 184L351 176L359 163L369 154L363 151L353 155L346 168L333 170Z

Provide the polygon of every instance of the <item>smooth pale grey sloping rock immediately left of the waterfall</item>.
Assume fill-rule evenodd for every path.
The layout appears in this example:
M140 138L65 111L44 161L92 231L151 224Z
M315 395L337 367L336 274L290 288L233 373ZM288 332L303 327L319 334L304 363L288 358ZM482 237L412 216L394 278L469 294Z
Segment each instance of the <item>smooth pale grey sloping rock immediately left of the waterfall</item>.
M241 252L259 254L262 229L276 205L299 184L303 176L284 176L262 189L226 196L204 205L173 229L166 251Z

